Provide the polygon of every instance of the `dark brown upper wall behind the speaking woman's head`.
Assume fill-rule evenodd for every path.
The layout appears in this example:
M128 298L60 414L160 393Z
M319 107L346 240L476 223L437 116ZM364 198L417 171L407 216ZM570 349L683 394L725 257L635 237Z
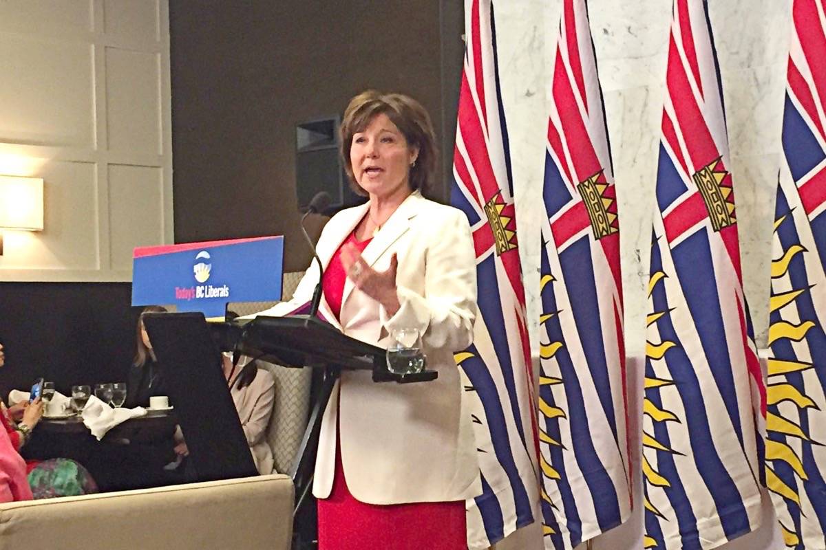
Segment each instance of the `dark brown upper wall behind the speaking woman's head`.
M461 12L439 0L170 2L176 241L283 234L285 270L305 269L295 126L377 88L414 96L452 143Z

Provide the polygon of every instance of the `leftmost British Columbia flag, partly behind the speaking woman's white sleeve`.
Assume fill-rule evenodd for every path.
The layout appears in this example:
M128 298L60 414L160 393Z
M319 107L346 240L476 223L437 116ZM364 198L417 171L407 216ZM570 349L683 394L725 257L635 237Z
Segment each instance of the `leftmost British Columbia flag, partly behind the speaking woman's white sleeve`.
M532 523L539 487L531 460L534 377L491 0L465 2L465 34L451 203L468 215L477 258L473 345L456 355L467 375L484 489L468 501L468 548L475 550Z

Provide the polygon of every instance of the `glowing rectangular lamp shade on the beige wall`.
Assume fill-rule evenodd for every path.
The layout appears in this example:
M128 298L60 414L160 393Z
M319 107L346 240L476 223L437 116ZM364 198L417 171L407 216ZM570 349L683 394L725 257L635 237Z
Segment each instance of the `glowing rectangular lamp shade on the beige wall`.
M0 176L0 229L43 230L43 178Z

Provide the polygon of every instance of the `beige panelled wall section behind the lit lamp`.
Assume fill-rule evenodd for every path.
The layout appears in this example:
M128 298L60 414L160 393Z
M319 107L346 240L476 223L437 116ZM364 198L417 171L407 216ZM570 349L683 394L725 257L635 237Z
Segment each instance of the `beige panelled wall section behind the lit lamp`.
M0 174L45 180L0 281L128 281L173 241L167 0L0 2Z

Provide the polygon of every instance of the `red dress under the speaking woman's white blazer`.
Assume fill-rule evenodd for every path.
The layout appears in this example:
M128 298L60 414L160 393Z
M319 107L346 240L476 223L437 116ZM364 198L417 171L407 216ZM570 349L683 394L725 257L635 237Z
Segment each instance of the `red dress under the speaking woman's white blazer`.
M370 239L352 242L363 251ZM324 296L339 317L344 281L341 248L335 251L324 273ZM413 502L373 505L357 501L347 487L336 430L335 477L330 496L318 501L319 550L467 550L464 501ZM400 472L403 475L403 472Z

